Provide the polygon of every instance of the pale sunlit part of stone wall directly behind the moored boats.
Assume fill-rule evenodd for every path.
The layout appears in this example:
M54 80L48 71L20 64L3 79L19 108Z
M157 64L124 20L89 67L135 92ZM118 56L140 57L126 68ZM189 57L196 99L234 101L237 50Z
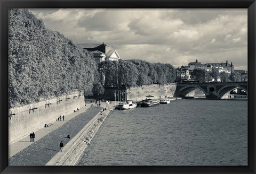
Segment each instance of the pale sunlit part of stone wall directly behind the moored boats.
M143 85L126 90L127 100L141 101L146 99L147 95L153 95L154 98L173 97L176 90L176 84L169 85Z

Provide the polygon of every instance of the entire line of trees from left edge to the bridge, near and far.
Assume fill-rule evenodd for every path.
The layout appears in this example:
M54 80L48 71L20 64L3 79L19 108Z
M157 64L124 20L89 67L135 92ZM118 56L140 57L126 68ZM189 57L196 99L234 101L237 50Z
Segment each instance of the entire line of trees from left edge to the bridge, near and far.
M97 65L93 55L26 9L9 10L9 108L78 89L100 95L103 86L164 85L176 79L170 64L133 59Z

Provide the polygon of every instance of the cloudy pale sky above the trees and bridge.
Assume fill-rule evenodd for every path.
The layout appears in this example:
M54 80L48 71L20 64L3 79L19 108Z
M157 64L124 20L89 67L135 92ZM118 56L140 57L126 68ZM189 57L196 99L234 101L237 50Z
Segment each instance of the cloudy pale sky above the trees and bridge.
M30 11L75 44L107 43L121 59L233 63L247 70L247 9L57 9Z

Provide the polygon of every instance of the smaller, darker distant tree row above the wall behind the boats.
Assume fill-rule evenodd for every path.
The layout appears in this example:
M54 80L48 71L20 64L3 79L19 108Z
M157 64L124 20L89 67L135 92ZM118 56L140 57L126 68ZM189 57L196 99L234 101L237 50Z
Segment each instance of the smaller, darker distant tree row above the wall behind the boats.
M164 85L176 79L175 68L171 64L149 63L145 60L104 61L99 64L99 72L104 86Z

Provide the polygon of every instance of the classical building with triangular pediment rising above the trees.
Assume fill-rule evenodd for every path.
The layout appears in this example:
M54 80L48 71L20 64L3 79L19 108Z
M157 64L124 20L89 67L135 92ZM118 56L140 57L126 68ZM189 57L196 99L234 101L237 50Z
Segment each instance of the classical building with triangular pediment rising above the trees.
M93 54L95 62L98 64L105 61L118 61L121 59L116 49L113 48L110 44L76 44L78 47L86 49Z

